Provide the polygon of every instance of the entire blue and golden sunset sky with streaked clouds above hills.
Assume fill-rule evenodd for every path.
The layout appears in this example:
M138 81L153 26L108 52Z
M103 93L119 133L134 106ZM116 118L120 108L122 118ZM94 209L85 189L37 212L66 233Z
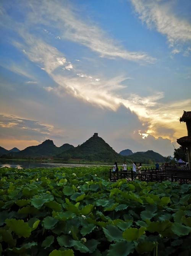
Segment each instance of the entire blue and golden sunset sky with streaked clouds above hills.
M94 132L167 156L191 111L190 0L2 0L0 146Z

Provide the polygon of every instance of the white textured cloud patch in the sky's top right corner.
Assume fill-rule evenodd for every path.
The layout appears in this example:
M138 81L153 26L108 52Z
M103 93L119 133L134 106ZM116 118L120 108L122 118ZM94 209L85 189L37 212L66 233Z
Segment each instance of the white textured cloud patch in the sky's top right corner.
M170 46L191 41L191 23L176 17L172 12L172 1L131 0L139 18L149 28L153 26L167 36Z

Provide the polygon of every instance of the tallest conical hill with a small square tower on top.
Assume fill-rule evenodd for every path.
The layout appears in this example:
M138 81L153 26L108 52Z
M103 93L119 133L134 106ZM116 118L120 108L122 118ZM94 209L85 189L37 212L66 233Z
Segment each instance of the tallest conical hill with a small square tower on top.
M121 161L120 154L110 147L101 137L94 134L83 144L73 149L67 150L66 153L73 159L84 159L88 161Z

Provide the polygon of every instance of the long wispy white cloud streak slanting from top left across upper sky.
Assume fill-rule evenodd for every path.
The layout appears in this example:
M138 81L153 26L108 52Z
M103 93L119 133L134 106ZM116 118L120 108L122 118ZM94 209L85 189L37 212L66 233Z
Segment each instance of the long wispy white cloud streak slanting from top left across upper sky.
M31 2L32 13L29 13L30 22L46 24L51 22L51 26L60 29L58 39L68 39L90 48L105 58L122 58L129 61L141 61L154 63L155 58L144 52L134 52L125 50L120 44L107 35L105 31L92 21L85 21L78 16L72 7L59 1ZM52 22L54 21L54 22ZM47 31L46 31L47 32Z

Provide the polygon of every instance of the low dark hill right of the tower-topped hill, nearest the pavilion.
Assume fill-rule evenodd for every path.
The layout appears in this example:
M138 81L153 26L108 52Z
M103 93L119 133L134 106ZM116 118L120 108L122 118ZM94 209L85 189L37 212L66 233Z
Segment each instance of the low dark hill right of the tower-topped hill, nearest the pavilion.
M166 158L160 155L159 153L154 152L153 150L148 150L146 152L136 152L132 155L128 155L126 159L131 159L135 162L149 164L149 160L151 162L165 162Z

